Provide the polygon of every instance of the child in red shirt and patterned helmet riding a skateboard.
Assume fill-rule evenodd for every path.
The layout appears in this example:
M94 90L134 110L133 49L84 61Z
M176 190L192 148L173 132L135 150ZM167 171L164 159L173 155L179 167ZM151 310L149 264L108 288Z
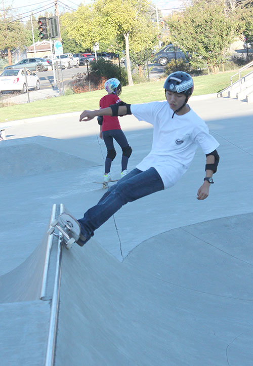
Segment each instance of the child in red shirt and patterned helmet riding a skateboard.
M105 90L107 95L100 99L99 108L107 108L111 104L121 103L119 95L121 94L121 84L118 79L111 78L105 82ZM113 139L119 144L122 149L121 158L121 177L128 174L128 160L132 153L132 148L129 146L128 140L120 128L119 120L117 116L100 116L98 117L98 123L100 125L99 137L104 140L107 148L107 156L105 159L105 174L104 182L112 180L110 170L113 159L116 156L116 151L114 149Z

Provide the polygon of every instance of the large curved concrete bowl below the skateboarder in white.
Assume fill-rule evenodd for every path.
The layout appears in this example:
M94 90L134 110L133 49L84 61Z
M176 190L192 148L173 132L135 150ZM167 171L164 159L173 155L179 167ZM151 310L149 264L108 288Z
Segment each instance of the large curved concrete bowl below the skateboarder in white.
M55 364L252 364L253 214L64 251Z

